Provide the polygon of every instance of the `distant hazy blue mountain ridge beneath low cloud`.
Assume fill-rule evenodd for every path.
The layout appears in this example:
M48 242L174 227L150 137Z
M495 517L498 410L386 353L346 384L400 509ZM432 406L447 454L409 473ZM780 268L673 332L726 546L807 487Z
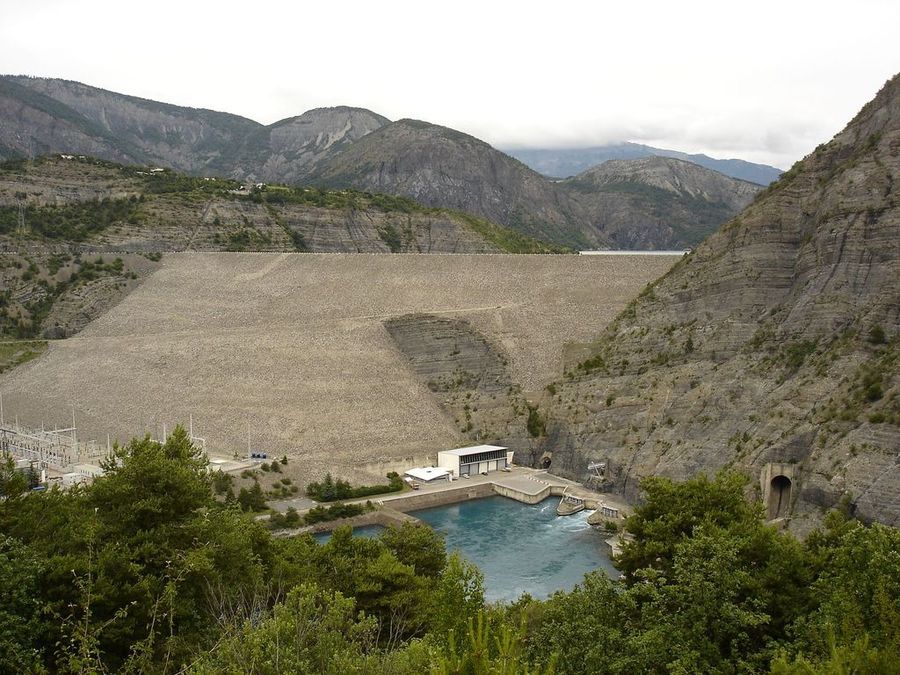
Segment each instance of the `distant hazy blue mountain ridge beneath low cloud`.
M640 143L613 143L589 148L520 148L505 152L538 173L553 178L568 178L611 159L642 159L654 156L683 159L757 185L768 185L782 174L781 169L767 164L754 164L742 159L714 159L708 155L692 155Z

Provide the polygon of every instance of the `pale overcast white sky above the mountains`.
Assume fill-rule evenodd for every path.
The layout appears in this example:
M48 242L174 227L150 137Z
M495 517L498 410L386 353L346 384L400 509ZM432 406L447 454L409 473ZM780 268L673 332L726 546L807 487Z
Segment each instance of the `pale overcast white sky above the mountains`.
M784 168L900 71L898 35L898 0L0 0L0 71L263 123L355 105L498 147Z

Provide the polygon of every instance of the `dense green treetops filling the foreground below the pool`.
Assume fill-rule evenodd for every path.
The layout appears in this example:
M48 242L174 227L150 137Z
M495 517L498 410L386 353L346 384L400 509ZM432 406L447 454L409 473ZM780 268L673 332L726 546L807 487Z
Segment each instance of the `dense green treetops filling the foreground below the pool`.
M275 538L183 429L116 448L87 487L0 472L0 671L890 672L900 533L836 511L805 541L732 473L644 482L622 579L487 604L425 526ZM219 480L221 482L221 479ZM220 491L221 492L221 491Z

